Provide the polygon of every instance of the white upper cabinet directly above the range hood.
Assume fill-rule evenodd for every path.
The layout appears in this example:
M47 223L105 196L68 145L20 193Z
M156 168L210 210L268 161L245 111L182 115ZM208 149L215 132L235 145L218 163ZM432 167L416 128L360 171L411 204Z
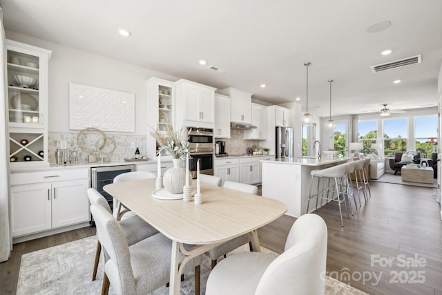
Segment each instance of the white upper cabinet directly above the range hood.
M226 88L218 93L231 98L231 122L251 124L251 93Z

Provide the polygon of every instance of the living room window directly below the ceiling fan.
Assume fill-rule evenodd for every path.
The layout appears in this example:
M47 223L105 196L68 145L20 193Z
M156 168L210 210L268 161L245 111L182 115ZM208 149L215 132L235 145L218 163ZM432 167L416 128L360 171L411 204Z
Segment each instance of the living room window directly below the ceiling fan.
M386 119L383 125L385 157L393 157L396 151L407 151L408 120Z

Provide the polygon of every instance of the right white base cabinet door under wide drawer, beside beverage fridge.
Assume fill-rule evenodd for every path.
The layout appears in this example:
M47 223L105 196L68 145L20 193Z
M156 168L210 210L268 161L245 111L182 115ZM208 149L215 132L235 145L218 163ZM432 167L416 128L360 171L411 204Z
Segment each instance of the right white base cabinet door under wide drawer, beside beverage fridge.
M89 220L88 179L53 182L52 227Z

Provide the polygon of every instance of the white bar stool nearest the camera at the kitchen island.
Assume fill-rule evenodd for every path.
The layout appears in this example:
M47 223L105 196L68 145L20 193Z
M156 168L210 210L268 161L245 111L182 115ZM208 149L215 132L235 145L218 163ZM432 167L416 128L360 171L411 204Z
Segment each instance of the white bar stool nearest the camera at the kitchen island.
M318 191L316 194L313 194L313 195L311 195L312 191L309 191L309 200L307 202L307 212L309 211L309 205L310 205L311 198L316 198L316 206L317 206L318 198L325 199L323 197L323 193L325 191L327 191L327 198L326 199L338 202L340 225L342 227L344 226L343 212L342 212L342 209L340 208L340 204L342 202L344 202L344 204L345 204L345 211L347 211L347 218L349 218L349 214L348 214L348 209L347 209L347 202L345 202L345 195L342 191L340 191L340 189L343 189L343 176L345 175L346 171L347 171L346 164L332 166L330 168L323 169L323 170L317 170L315 172L312 171L311 180L314 180L314 178L318 178ZM325 179L334 180L334 190L332 191L331 189L329 189L329 187L327 187L327 188L323 187L322 192L321 192L322 196L319 196L319 192L321 191L319 189L320 178L323 178L323 184L325 184ZM310 184L310 187L312 187L312 183ZM332 195L332 198L328 198L329 192L332 192L335 196ZM335 200L335 198L337 200Z

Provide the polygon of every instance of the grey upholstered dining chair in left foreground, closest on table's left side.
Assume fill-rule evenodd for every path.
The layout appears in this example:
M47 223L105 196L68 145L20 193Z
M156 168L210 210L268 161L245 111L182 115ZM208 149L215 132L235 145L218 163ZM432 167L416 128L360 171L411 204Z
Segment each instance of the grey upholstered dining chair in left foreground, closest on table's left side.
M131 246L115 217L104 207L93 204L90 211L97 225L99 242L106 250L102 294L109 286L115 294L147 294L169 282L172 242L163 234L155 234ZM184 270L195 267L195 294L200 289L198 256L189 261ZM198 289L197 289L198 287Z

